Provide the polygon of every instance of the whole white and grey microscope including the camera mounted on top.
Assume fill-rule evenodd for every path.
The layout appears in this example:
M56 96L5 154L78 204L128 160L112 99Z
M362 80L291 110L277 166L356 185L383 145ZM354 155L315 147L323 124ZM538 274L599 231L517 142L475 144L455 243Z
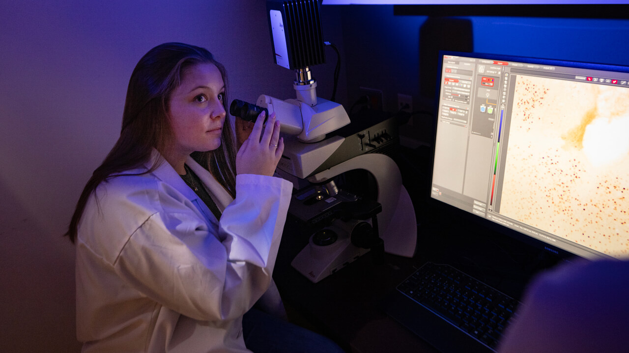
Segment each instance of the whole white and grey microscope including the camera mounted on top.
M396 122L352 122L343 106L317 97L310 67L325 63L326 44L317 0L268 0L267 11L274 58L295 70L296 98L263 94L256 105L281 122L285 147L276 172L294 186L289 213L318 229L292 266L316 283L368 251L412 257L415 210L398 166L383 153L396 137ZM369 175L374 197L338 186L357 170Z

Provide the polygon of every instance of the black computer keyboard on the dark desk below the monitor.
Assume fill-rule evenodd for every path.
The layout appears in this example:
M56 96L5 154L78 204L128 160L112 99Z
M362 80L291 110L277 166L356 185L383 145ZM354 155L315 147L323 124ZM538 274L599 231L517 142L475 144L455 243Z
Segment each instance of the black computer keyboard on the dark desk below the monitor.
M447 264L424 264L397 290L490 350L516 319L520 304Z

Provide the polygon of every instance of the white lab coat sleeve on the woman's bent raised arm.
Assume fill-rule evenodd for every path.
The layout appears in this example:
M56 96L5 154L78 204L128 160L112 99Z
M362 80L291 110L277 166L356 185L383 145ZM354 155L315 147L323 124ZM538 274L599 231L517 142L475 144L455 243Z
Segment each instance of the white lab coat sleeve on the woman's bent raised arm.
M236 190L218 233L186 205L162 197L162 210L133 233L116 271L187 317L220 321L243 315L269 287L292 185L238 175Z

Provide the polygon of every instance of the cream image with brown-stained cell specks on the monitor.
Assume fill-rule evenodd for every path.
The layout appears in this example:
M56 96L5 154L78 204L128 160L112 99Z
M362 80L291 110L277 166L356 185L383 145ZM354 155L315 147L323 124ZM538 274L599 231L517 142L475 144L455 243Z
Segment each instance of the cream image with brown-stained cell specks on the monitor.
M498 212L629 257L629 89L518 75L515 102Z

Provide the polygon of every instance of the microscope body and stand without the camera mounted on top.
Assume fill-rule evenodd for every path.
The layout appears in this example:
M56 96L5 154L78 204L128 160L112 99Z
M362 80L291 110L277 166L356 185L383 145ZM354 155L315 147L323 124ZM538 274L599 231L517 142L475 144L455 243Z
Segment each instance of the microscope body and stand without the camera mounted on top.
M398 166L386 155L397 143L396 121L361 116L350 123L339 104L320 98L317 102L309 106L267 95L257 100L269 113L276 112L281 122L284 153L276 171L294 185L289 212L319 227L292 266L313 282L347 266L369 251L352 241L352 234L357 239L355 233L367 229L365 224L384 241L386 253L412 257L417 237L415 210ZM357 170L366 171L374 180L372 200L362 200L335 182ZM375 202L377 207L371 213L338 212L360 209L364 202ZM361 226L356 229L356 224ZM336 234L335 241L318 242L321 234Z

